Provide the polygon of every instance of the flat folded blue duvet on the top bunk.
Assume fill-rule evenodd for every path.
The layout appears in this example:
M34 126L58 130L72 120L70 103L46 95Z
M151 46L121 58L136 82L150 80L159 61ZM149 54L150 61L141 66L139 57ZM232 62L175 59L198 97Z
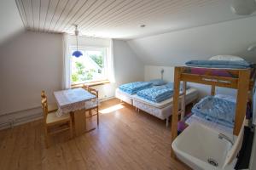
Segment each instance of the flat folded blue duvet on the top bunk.
M246 69L252 68L255 64L245 60L228 61L228 60L190 60L186 62L188 66L207 67L207 68L231 68L231 69Z

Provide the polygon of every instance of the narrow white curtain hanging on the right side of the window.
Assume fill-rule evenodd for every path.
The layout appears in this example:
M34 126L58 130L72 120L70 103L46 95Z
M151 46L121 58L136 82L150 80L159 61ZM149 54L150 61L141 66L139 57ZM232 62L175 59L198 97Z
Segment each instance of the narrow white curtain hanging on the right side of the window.
M108 50L108 80L110 82L115 82L114 78L114 64L113 64L113 39L109 40L109 50Z

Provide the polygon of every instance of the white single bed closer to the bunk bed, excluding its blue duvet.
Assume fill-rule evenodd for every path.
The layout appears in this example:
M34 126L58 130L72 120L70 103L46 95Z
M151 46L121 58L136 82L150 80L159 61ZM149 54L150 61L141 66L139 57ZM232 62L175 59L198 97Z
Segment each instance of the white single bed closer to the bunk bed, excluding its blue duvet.
M166 120L166 126L169 123L169 116L172 115L172 99L166 99L160 103L143 99L137 94L132 95L133 106L136 107L137 111L142 110L148 112L150 115L156 116L161 120ZM186 93L186 105L195 102L198 98L198 92L195 88L189 88Z

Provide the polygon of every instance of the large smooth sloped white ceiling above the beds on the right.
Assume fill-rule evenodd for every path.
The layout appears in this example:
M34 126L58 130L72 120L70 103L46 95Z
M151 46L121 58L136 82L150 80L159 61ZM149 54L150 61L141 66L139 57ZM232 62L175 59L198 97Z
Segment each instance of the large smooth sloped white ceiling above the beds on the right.
M238 55L256 63L256 16L210 26L172 31L128 41L146 65L184 65L191 59L209 59L213 55Z

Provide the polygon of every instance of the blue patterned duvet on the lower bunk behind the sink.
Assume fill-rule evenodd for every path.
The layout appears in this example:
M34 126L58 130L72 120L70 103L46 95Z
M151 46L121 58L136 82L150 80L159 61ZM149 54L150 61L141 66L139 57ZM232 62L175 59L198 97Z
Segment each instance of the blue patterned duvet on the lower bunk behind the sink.
M192 113L208 121L217 122L226 127L234 127L236 103L207 96L193 106Z

